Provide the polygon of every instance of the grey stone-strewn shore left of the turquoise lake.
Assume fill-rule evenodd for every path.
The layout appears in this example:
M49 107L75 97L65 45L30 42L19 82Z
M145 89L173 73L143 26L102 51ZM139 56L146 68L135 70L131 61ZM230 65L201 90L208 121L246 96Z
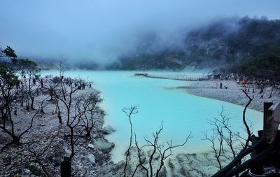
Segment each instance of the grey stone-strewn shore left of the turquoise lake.
M71 155L69 127L66 126L64 108L60 110L62 124L59 124L55 102L49 100L48 94L45 94L47 90L42 88L41 94L36 97L35 110L25 111L20 105L15 106L15 110L18 111L17 115L13 115L13 122L17 134L29 127L37 108L42 106L43 111L36 114L31 129L22 136L20 145L9 146L0 152L0 176L60 176L62 160ZM94 88L85 87L85 90L78 90L77 96L85 92L94 92ZM40 105L42 100L45 101ZM94 122L91 139L85 139L83 132L75 143L71 174L118 176L118 173L123 172L122 164L113 164L110 152L115 145L104 138L105 134L111 134L115 130L110 126L103 127L103 114L96 115ZM0 131L0 149L10 141L10 136Z

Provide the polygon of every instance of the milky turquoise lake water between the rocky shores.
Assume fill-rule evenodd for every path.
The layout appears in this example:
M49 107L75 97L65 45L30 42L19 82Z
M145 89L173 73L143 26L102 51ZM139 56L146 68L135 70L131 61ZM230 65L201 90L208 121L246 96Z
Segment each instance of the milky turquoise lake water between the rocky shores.
M46 74L58 71L43 71ZM145 144L144 136L151 139L151 134L164 126L160 142L172 140L174 144L182 143L191 132L188 143L176 149L180 153L197 153L208 150L211 146L204 141L203 132L211 131L209 120L218 118L218 111L223 106L225 115L231 118L230 125L234 132L245 132L242 124L244 107L225 101L197 97L183 89L191 81L167 80L134 76L136 71L66 71L64 76L92 80L93 87L102 92L102 108L106 111L105 124L111 125L116 132L106 139L116 144L111 152L113 162L124 160L125 150L130 140L130 122L122 108L139 106L139 113L132 116L132 124L140 146ZM190 75L200 73L185 72L148 72L157 75ZM245 97L245 96L244 96ZM248 109L246 118L251 120L256 131L262 127L262 113ZM209 132L210 134L211 132Z

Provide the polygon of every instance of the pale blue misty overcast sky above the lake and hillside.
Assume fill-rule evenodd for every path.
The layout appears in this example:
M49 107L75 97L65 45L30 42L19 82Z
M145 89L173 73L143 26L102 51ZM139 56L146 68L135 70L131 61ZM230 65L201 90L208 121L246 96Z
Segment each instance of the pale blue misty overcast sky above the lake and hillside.
M173 38L216 17L280 18L279 0L0 0L0 7L0 45L18 56L98 62L129 51L146 32Z

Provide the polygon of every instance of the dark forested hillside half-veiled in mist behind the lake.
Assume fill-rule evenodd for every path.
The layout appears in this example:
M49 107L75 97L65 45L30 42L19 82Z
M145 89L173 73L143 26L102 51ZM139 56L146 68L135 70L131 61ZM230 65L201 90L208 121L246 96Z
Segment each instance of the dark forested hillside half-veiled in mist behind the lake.
M156 35L156 34L155 34ZM120 56L109 69L220 69L268 76L280 63L280 20L231 17L189 31L183 45ZM156 43L150 38L149 43ZM140 45L140 44L139 44Z

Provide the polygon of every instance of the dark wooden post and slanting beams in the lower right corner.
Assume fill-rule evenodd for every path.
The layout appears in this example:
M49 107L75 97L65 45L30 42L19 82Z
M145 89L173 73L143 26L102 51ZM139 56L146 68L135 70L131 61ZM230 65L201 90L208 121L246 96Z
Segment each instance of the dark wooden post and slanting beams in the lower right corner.
M261 138L251 136L252 145L248 146L248 148L241 150L239 155L237 155L237 157L235 157L235 159L232 160L230 164L228 164L226 167L214 174L213 177L235 176L249 168L251 168L251 173L256 175L262 175L262 168L265 162L267 162L267 164L272 164L272 157L279 158L279 154L277 154L277 152L279 152L280 150L280 139L276 139L276 137L280 136L280 133L278 131L280 123L280 103L265 103L263 115L263 131L261 134L259 134ZM236 164L241 162L241 159L249 153L252 153L251 159L235 167Z

